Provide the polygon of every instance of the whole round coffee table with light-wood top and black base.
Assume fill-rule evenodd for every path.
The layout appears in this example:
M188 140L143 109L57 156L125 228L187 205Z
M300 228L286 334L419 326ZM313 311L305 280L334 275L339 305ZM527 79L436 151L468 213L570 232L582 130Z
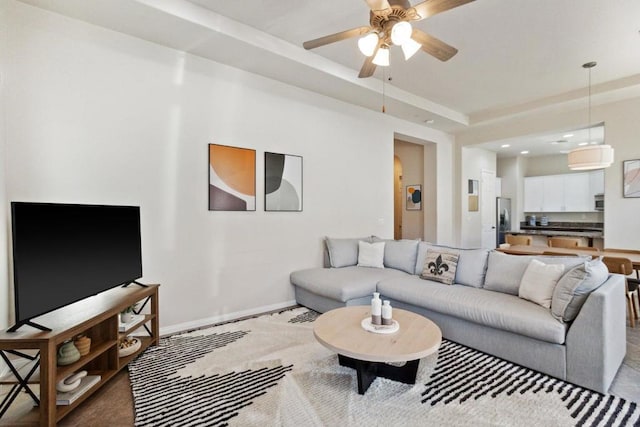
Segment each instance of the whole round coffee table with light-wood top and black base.
M371 316L368 306L328 311L315 320L313 335L320 344L338 353L340 365L356 370L360 394L367 391L376 377L415 384L420 359L440 347L440 328L424 316L394 308L393 319L400 329L392 334L378 334L360 325L368 316ZM396 366L403 362L406 363Z

